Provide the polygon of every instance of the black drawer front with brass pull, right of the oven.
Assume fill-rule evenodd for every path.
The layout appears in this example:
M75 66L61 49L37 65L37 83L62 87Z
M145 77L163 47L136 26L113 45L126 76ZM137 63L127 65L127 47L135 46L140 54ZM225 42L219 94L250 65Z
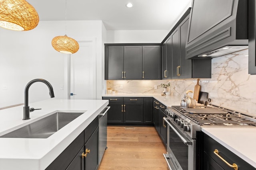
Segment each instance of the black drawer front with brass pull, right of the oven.
M204 153L208 154L215 162L217 162L223 169L230 168L221 158L219 158L216 154L214 154L214 150L218 150L218 155L220 155L224 160L226 160L229 164L235 163L238 166L238 170L256 170L256 168L252 167L246 161L238 157L236 154L228 150L226 147L204 134Z

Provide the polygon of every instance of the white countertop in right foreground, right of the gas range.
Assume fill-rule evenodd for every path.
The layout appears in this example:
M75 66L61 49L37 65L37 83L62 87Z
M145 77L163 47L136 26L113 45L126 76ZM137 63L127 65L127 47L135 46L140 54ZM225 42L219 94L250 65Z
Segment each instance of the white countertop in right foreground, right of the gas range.
M202 131L256 168L256 128L202 127Z

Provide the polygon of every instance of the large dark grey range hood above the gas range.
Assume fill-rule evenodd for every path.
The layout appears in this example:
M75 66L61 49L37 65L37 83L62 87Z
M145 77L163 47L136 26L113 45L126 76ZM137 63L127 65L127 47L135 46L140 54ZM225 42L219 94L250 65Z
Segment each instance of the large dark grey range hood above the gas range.
M248 0L193 0L186 59L248 48Z

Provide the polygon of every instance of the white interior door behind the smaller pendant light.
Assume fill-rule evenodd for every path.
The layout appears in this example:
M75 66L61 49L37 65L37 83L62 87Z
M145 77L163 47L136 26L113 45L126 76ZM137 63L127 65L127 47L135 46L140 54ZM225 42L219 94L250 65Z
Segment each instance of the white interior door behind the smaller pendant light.
M70 55L70 99L96 99L96 41L78 43Z

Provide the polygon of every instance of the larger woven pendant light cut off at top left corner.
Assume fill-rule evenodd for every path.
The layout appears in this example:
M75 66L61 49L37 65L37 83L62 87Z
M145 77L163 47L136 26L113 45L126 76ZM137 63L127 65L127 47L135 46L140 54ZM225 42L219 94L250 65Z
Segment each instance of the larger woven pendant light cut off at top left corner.
M28 31L34 29L38 22L35 8L25 0L0 0L0 27Z

